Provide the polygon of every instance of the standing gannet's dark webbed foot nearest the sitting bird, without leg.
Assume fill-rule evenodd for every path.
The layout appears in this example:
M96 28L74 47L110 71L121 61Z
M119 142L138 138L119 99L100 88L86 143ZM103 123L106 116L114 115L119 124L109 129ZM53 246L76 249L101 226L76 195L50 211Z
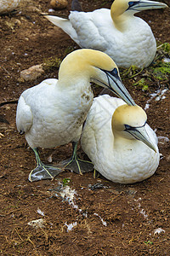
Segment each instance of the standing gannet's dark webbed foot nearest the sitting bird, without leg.
M60 164L61 166L63 166L64 169L76 172L77 174L82 174L84 172L92 172L94 170L94 165L86 160L69 159L62 161Z

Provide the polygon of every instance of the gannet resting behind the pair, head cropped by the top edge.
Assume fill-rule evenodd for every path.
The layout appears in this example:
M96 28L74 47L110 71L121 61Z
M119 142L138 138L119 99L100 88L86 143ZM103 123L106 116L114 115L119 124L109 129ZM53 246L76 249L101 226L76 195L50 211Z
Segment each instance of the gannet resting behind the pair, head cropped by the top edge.
M81 48L98 49L110 55L118 67L148 67L156 54L156 39L150 26L134 14L165 7L165 3L148 0L115 0L111 10L71 11L69 20L54 15L45 17Z

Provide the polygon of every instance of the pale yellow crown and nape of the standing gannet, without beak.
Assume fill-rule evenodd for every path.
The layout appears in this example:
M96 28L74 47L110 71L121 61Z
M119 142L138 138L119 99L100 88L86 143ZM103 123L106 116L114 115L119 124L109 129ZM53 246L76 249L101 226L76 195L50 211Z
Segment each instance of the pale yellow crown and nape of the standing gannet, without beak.
M77 76L92 77L94 68L98 67L108 71L115 67L116 63L109 55L94 49L77 49L61 62L59 67L59 80L64 78L76 78ZM69 81L69 80L68 80Z

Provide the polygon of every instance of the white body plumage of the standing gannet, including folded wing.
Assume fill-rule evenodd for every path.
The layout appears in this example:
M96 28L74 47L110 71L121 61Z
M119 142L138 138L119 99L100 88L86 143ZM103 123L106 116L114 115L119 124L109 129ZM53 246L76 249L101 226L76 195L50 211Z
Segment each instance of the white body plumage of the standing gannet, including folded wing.
M57 79L46 79L20 96L17 128L26 133L31 148L54 148L80 137L93 92L90 87L83 90L83 86L81 91L59 89ZM81 97L83 92L88 94L88 100Z

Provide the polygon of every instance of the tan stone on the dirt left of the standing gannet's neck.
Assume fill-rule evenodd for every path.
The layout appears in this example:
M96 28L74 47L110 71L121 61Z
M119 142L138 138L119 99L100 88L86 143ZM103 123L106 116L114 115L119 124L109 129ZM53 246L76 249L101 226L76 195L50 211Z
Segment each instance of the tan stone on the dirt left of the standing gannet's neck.
M42 68L42 64L40 64L40 65L32 66L28 69L22 70L20 72L20 77L22 79L25 79L25 81L31 81L40 77L42 73L44 73L44 70Z

